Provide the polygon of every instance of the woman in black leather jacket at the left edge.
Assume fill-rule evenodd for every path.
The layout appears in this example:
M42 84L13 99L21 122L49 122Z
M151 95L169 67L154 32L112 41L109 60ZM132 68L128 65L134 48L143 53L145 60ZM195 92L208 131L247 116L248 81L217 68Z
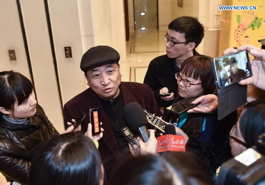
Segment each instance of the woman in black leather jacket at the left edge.
M34 153L58 134L37 104L29 79L0 72L0 172L6 180L26 184Z

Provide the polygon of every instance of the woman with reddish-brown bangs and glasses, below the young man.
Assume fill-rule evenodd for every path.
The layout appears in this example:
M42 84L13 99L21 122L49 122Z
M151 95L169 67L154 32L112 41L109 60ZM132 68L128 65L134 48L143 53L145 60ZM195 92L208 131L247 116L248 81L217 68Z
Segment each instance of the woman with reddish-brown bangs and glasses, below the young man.
M202 95L216 92L214 83L211 58L204 55L192 56L186 59L180 67L180 72L175 74L178 83L177 97L170 102L174 104L184 98L196 99ZM162 91L167 91L163 88ZM209 141L216 130L217 117L215 114L183 113L178 118L176 115L165 116L184 133L186 141L188 138L199 142ZM181 133L181 130L177 129Z

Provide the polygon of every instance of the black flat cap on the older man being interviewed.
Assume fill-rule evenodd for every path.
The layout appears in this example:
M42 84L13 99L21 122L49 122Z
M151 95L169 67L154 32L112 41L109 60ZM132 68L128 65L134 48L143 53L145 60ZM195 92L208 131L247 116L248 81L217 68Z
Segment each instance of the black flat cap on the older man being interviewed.
M108 63L117 63L120 60L118 51L110 46L95 46L87 50L82 56L80 68L86 72L95 66Z

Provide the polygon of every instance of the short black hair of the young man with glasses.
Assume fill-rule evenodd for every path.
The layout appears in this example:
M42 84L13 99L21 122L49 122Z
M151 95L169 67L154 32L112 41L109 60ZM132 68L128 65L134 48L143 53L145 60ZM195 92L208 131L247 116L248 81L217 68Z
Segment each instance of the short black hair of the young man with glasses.
M168 29L185 34L187 42L194 42L195 48L201 43L204 36L203 25L195 17L182 16L174 19L168 25ZM194 49L195 49L194 48Z

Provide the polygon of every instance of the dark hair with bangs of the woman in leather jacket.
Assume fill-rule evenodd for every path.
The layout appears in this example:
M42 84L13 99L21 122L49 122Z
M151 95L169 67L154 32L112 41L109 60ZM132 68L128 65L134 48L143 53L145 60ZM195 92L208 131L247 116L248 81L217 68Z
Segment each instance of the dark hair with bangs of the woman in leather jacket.
M14 111L14 104L18 106L26 101L32 93L33 86L26 76L16 71L0 72L0 107Z

